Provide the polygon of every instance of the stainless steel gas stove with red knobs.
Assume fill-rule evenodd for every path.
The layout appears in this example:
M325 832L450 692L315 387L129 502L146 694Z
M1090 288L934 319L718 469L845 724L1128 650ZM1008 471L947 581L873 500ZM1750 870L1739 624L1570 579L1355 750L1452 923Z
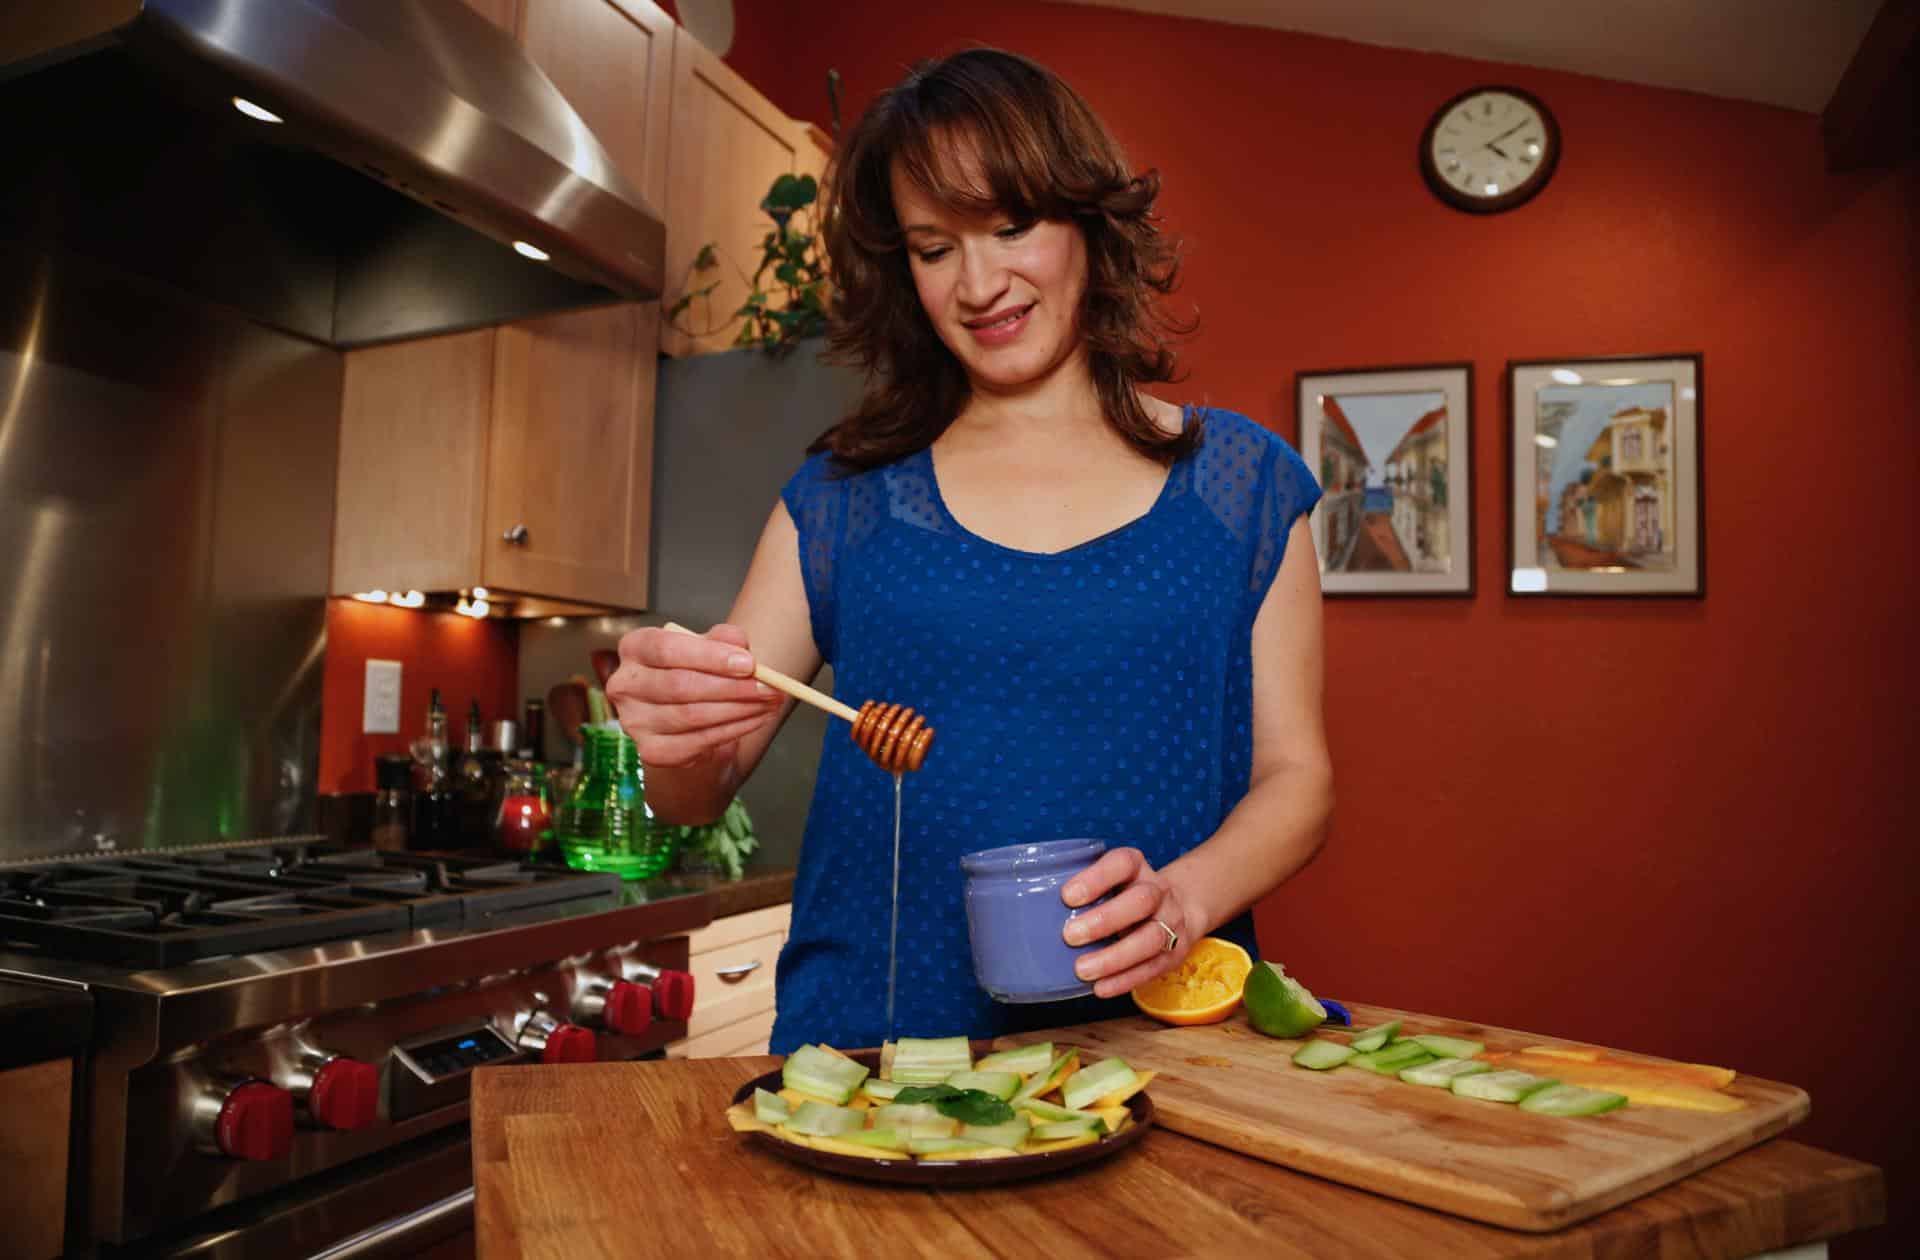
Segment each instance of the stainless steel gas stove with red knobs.
M303 839L0 866L0 974L94 999L69 1248L307 1254L396 1212L444 1224L470 1200L476 1068L685 1035L684 933L710 914L674 891Z

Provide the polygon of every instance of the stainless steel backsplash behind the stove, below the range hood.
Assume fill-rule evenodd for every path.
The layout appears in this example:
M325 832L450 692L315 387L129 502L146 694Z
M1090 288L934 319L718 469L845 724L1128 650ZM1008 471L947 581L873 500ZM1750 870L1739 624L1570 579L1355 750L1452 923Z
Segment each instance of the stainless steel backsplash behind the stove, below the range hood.
M0 248L0 860L313 826L340 375Z

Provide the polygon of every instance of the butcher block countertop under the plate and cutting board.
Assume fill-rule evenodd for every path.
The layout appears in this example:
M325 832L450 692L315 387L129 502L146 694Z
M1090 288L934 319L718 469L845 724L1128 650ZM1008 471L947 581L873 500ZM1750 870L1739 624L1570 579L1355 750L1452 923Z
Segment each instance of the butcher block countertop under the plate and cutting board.
M733 1091L778 1066L755 1056L480 1070L480 1258L1757 1256L1885 1220L1878 1168L1780 1137L1551 1233L1348 1189L1164 1126L1046 1179L872 1185L799 1168L728 1127Z

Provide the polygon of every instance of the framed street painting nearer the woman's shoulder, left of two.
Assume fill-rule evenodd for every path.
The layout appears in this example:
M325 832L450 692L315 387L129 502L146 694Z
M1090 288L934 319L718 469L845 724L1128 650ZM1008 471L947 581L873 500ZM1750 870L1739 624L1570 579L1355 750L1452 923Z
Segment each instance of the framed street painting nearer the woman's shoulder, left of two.
M1304 371L1323 595L1473 595L1473 365Z

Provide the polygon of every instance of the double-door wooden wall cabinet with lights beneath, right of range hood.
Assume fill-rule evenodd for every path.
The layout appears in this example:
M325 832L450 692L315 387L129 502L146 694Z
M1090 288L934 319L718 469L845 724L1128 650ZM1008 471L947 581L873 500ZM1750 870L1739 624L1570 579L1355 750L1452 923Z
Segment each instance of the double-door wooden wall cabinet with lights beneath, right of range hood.
M611 305L348 353L334 594L645 607L657 327Z

